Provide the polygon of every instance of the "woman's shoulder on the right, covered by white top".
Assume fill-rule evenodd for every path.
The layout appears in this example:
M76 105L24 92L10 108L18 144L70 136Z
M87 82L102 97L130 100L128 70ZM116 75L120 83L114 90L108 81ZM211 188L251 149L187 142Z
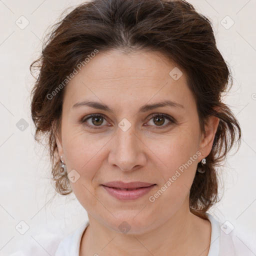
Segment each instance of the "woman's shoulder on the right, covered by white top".
M255 236L228 220L217 221L208 214L211 222L211 241L208 256L253 256L256 252Z

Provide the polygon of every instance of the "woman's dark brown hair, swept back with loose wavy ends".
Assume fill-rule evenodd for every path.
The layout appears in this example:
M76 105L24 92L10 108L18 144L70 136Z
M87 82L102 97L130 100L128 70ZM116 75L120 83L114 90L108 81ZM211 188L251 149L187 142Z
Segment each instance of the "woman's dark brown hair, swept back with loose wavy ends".
M204 131L210 115L220 119L206 164L198 163L205 172L196 172L190 189L190 210L203 217L218 199L216 168L226 158L235 138L240 145L241 134L238 121L221 102L232 79L216 47L211 22L183 0L92 0L78 5L53 25L30 71L39 70L31 92L35 139L39 141L41 134L48 138L55 190L60 194L72 191L67 175L62 176L58 171L54 135L61 118L65 87L51 99L47 95L95 49L117 48L156 50L174 60L187 74L201 130Z

